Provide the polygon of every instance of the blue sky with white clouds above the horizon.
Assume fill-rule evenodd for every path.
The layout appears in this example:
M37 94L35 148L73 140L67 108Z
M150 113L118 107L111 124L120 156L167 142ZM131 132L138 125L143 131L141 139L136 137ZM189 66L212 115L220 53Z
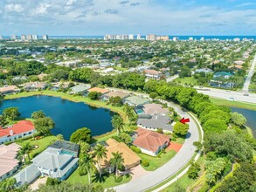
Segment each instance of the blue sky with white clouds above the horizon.
M0 0L0 34L256 35L255 0Z

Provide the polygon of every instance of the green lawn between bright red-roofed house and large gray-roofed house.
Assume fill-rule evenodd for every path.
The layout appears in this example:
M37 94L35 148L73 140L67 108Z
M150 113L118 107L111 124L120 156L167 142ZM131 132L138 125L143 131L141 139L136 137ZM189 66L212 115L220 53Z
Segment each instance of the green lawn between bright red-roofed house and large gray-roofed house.
M52 144L53 141L56 141L55 136L46 136L40 140L33 140L31 138L31 139L25 140L25 141L17 141L17 144L23 145L25 142L30 142L31 145L38 146L37 149L34 149L31 151L30 156L31 156L31 158L33 158L37 154L40 154L41 152L43 152L48 146L50 146Z

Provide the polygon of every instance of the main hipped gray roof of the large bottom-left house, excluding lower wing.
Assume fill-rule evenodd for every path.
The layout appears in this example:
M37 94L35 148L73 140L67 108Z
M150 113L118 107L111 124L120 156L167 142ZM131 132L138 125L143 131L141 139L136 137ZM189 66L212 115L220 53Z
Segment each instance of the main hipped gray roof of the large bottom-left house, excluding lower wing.
M68 161L71 161L73 155L60 154L61 149L48 147L44 152L38 154L33 162L41 168L54 170L54 168L63 168Z

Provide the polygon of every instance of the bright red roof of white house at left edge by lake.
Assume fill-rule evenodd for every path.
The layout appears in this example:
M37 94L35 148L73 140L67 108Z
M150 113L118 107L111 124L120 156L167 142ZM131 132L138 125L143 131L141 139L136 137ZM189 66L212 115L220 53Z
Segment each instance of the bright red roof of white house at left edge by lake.
M13 125L12 127L8 128L1 128L0 127L0 137L3 136L10 136L10 131L12 130L13 135L15 134L23 134L25 132L29 132L35 129L31 120L20 120L17 124Z

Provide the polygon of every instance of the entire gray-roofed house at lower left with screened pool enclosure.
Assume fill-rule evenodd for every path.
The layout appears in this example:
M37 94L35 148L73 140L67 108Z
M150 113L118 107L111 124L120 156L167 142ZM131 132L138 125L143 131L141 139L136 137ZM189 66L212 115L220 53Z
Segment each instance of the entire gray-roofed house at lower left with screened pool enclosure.
M67 150L67 148L70 150ZM77 144L70 143L70 145L67 145L66 142L64 144L57 143L46 148L44 152L38 154L32 160L31 166L14 175L17 184L30 184L40 175L49 176L59 181L66 180L79 166L79 158L75 156L78 153L76 150L79 150Z

